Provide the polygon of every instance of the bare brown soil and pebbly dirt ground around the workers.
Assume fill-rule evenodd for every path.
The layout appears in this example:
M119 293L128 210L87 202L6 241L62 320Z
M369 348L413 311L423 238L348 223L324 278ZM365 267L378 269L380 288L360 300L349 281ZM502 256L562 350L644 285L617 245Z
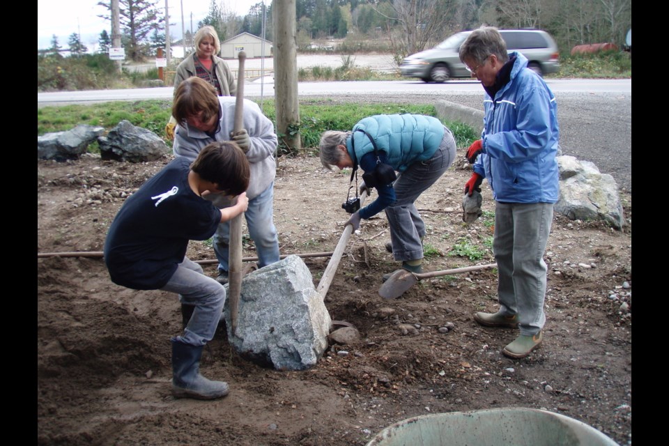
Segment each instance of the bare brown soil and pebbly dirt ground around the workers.
M487 247L494 203L485 183L486 213L470 225L461 220L470 176L463 151L459 165L417 201L429 228L426 270L494 261ZM167 162L38 161L38 252L102 251L125 197ZM325 171L317 157L280 158L282 254L334 250L347 220L340 207L347 187L348 174ZM397 268L384 249L390 236L382 214L351 238L325 297L332 318L355 325L361 341L330 346L308 371L286 372L243 360L219 330L201 363L205 376L230 384L230 394L215 401L171 396L169 338L181 327L176 295L112 284L95 254L38 256L38 444L364 445L407 417L507 406L561 413L631 444L631 195L621 199L629 222L623 231L555 216L545 256L544 344L523 360L500 353L517 330L472 319L498 307L494 270L423 279L400 298L380 298L380 276ZM483 256L456 255L476 254L463 240ZM200 242L188 255L215 258ZM244 255L255 255L250 240ZM314 286L328 261L305 259ZM205 270L216 274L213 263Z

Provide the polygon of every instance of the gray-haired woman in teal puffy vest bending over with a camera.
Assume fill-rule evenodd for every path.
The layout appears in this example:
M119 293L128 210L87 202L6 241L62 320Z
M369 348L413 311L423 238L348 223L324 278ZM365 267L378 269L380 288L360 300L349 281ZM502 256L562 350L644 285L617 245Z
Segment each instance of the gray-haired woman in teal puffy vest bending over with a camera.
M422 272L425 236L414 202L453 163L455 151L452 132L437 118L420 114L369 116L350 132L323 132L320 144L323 166L360 167L365 180L360 191L374 187L378 192L378 198L353 213L346 224L356 230L361 219L385 210L391 240L387 247L402 262L401 268L412 272Z

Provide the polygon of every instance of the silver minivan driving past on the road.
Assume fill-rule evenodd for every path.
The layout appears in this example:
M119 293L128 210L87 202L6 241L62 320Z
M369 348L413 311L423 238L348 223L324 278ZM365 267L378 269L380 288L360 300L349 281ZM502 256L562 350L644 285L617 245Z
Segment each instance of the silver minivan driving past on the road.
M500 29L508 51L518 51L528 58L528 68L543 76L560 70L555 40L539 29ZM471 77L460 61L460 45L472 31L450 36L432 49L412 54L400 66L403 76L418 77L424 82L446 82L457 77Z

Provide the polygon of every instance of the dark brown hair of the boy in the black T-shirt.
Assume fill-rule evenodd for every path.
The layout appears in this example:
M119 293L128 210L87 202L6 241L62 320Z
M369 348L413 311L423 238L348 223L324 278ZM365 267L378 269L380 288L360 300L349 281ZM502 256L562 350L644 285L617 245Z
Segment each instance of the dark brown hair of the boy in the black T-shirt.
M239 195L249 187L249 160L231 141L216 141L203 148L190 169L227 195Z

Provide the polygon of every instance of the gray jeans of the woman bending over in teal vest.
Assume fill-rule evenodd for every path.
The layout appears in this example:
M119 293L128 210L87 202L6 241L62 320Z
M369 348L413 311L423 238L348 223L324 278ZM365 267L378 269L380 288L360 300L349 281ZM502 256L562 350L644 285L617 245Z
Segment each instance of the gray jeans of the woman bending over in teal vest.
M434 155L429 160L411 164L393 183L396 200L385 208L385 215L396 261L423 258L421 239L425 235L425 224L414 202L453 164L455 149L452 132L444 128L444 137Z

